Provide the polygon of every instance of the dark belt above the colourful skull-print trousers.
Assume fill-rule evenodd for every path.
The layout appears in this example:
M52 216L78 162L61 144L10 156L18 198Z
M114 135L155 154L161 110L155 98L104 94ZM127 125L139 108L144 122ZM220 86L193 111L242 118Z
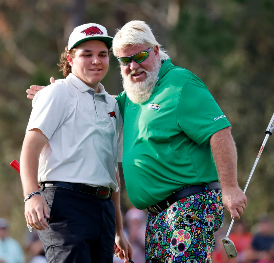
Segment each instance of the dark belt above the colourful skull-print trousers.
M159 214L163 210L170 207L171 204L175 203L178 200L181 200L184 197L191 196L193 194L198 194L207 190L221 190L221 185L219 182L208 183L207 185L193 185L187 188L182 189L172 193L169 197L147 208L150 213Z

